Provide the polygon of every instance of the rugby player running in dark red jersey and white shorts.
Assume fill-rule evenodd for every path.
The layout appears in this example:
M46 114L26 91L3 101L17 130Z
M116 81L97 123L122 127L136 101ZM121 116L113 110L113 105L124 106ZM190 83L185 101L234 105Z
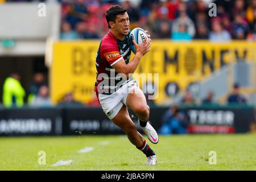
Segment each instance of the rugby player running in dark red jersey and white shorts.
M158 134L148 122L150 107L132 76L139 61L150 51L150 35L141 45L133 40L136 53L129 62L131 55L129 15L121 6L112 6L106 11L106 21L109 32L101 40L96 55L97 81L94 90L104 113L115 125L121 127L130 142L147 156L146 164L155 165L155 152L137 131L127 110L129 107L137 114L139 125L148 139L152 143L158 143Z

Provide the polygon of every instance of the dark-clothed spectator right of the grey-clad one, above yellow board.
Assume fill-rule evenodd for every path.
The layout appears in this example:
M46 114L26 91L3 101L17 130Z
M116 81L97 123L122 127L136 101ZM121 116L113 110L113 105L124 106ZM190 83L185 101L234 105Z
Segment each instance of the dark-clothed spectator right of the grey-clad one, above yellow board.
M234 16L234 21L232 22L233 39L245 39L248 33L248 23L245 20L243 20L241 14L236 14Z

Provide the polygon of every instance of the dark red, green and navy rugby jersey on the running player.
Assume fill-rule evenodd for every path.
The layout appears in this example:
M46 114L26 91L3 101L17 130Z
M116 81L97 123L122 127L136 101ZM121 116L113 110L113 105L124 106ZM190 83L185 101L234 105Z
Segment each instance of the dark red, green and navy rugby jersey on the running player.
M122 78L117 76L118 73L114 71L112 66L122 59L125 60L126 64L129 63L131 55L129 35L130 31L129 34L125 36L125 39L121 41L115 38L113 33L109 31L101 40L96 55L97 81L94 90L97 96L98 93L112 94L119 89L117 84L118 82L120 84ZM105 73L106 76L102 76L100 73ZM106 80L108 80L109 84L105 84ZM102 85L102 81L104 81L104 85ZM101 82L102 84L100 84Z

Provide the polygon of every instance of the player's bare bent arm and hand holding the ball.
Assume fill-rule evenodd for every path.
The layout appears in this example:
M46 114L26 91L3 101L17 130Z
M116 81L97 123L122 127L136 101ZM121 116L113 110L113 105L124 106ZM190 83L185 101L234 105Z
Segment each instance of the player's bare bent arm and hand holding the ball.
M118 61L116 64L112 65L112 67L115 69L118 73L124 73L127 77L129 76L129 73L134 73L136 68L138 67L139 61L141 61L142 56L144 56L148 51L150 51L151 46L151 39L146 40L141 44L135 43L133 40L133 43L135 45L136 54L133 57L133 60L130 61L130 63L126 64L125 60L122 59Z

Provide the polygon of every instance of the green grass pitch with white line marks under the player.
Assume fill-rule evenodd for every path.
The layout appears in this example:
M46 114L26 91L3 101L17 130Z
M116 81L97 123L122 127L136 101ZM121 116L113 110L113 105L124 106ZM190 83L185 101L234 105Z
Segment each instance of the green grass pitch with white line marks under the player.
M150 147L158 163L146 166L146 156L126 135L77 135L73 137L1 137L0 170L254 170L256 134L159 136ZM85 147L92 151L79 153ZM38 164L39 151L46 152L46 164ZM215 151L216 164L209 164ZM42 158L40 158L42 159ZM66 166L52 166L72 160ZM40 160L42 161L42 160Z

